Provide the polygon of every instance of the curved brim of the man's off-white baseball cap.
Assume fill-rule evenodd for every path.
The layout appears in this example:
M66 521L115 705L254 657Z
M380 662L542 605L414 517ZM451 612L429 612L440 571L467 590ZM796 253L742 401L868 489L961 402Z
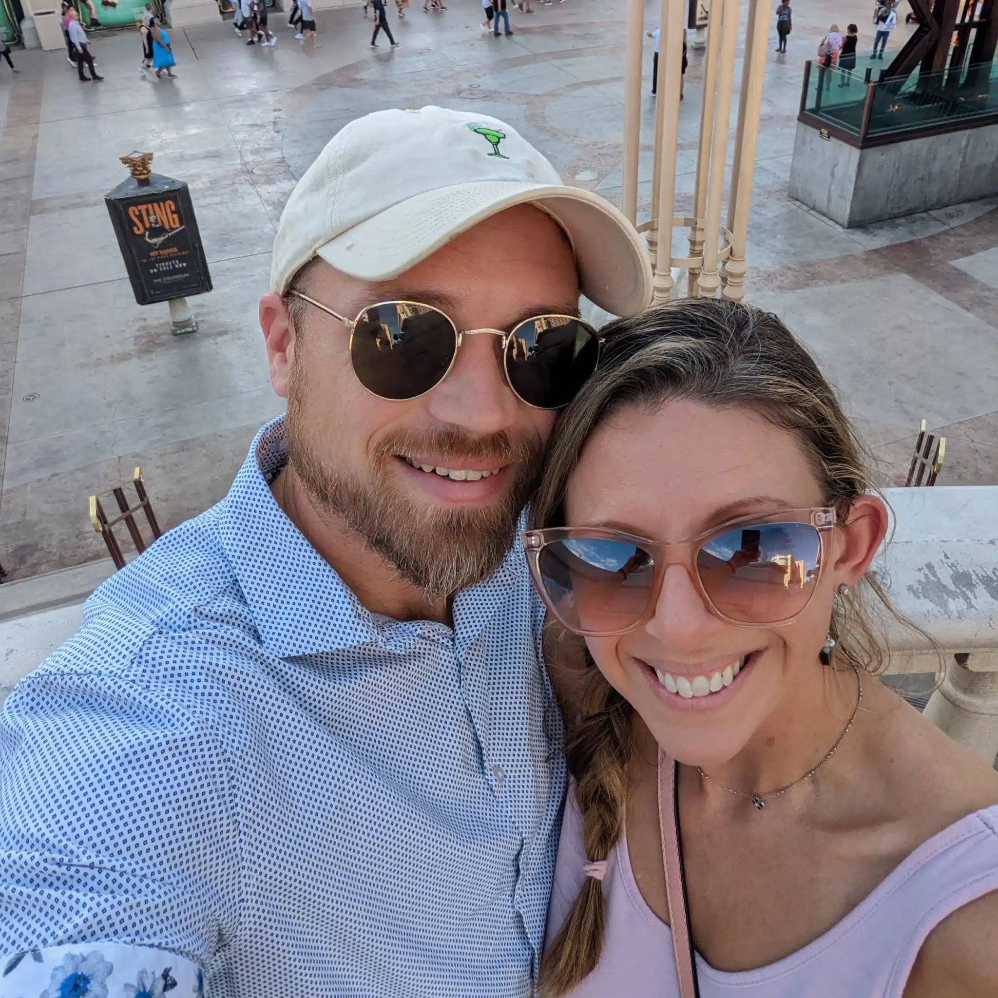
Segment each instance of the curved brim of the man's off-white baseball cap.
M359 223L316 255L361 280L388 280L484 219L527 204L568 233L587 298L614 315L648 306L652 268L641 237L613 205L581 188L476 181L427 191Z

